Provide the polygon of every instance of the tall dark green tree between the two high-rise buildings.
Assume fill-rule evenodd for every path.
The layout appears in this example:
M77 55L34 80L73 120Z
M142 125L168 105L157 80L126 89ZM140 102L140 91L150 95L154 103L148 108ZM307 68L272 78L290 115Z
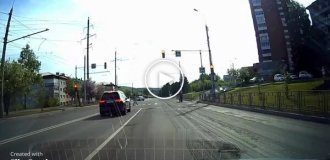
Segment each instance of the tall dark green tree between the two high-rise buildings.
M289 14L286 15L290 33L290 44L296 72L307 70L321 76L322 66L329 66L330 56L325 54L325 33L311 26L306 8L295 0L286 1ZM286 57L283 60L287 61Z

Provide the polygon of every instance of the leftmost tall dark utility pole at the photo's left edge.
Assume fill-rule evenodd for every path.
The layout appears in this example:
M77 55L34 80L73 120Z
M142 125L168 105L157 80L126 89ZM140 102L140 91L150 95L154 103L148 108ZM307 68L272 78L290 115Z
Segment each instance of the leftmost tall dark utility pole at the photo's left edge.
M13 7L10 9L9 12L9 18L7 21L7 27L6 27L6 33L5 37L3 39L3 48L2 48L2 59L1 59L1 107L0 107L0 117L3 117L3 110L4 110L4 81L5 81L5 58L6 58L6 48L7 48L7 40L8 40L8 32L9 32L9 26L11 21L11 16L13 13Z

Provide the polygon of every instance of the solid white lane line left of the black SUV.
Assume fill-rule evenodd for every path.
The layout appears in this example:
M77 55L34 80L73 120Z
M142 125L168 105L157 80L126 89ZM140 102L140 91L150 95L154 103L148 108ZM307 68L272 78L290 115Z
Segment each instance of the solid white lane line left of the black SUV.
M46 127L46 128L42 128L42 129L39 129L39 130L36 130L36 131L32 131L32 132L21 134L21 135L15 136L15 137L4 139L4 140L0 141L0 145L6 144L6 143L9 143L9 142L13 142L13 141L25 138L25 137L29 137L29 136L32 136L32 135L35 135L35 134L38 134L38 133L46 132L46 131L49 131L51 129L62 127L62 126L65 126L65 125L68 125L68 124L71 124L71 123L74 123L74 122L78 122L78 121L96 116L98 114L99 113L95 113L95 114L92 114L92 115L88 115L88 116L85 116L85 117L81 117L81 118L78 118L78 119L74 119L74 120L71 120L71 121L63 122L63 123L56 124L56 125L53 125L53 126L49 126L49 127Z

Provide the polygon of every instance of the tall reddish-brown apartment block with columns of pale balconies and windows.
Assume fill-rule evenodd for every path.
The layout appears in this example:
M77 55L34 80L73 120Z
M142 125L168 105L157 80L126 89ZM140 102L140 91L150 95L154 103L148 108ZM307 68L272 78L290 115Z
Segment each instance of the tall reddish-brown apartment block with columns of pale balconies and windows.
M272 76L281 68L292 71L292 48L285 0L249 0L258 46L258 73Z

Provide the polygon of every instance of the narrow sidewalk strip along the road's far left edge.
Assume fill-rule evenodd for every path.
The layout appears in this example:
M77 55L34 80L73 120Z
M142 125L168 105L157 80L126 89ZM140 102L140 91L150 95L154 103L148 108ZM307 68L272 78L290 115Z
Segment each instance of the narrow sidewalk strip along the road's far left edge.
M75 105L68 105L68 106L56 106L56 107L48 107L48 108L33 108L33 109L24 109L19 111L11 111L9 112L8 116L4 113L4 118L12 118L12 117L19 117L19 116L27 116L27 115L34 115L34 114L42 114L42 113L49 113L49 112L61 112L66 110L73 110L82 107L87 107L95 104L88 104L81 107L76 107Z

